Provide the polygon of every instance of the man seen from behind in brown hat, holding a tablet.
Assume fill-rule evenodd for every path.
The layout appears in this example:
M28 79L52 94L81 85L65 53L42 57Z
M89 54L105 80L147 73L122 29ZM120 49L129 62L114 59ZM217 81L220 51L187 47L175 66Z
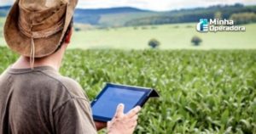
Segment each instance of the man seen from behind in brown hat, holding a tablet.
M0 77L0 134L131 134L140 107L95 122L90 101L76 81L61 76L72 36L77 0L16 0L4 25L9 47L20 54Z

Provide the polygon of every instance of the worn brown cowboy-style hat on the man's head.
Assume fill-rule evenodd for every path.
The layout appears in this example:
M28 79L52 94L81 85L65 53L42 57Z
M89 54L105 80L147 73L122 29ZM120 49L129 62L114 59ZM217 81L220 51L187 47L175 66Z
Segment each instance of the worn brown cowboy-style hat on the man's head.
M78 0L16 0L4 25L7 44L32 60L54 53L77 3Z

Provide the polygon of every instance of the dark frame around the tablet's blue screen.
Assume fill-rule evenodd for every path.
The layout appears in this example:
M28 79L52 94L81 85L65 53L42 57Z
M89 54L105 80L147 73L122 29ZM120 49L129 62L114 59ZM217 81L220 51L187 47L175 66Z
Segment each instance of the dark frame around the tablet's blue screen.
M150 92L152 92L152 90L153 90L152 88L131 87L131 86L126 86L126 85L107 83L106 86L102 89L102 92L100 92L100 94L97 95L96 98L90 103L91 109L93 108L93 106L96 103L96 101L98 100L98 98L101 98L102 95L104 94L104 92L106 92L108 90L108 87L116 87L116 88L122 88L122 89L126 89L126 90L139 91L139 92L143 91L144 92L143 97L141 99L139 99L139 101L135 104L135 106L139 105L141 107L143 107L144 103L147 102L147 100L149 98L148 96L149 96ZM93 114L93 111L92 111L92 114ZM103 122L108 122L109 120L112 120L112 118L98 116L98 115L94 115L94 114L93 114L93 119L96 121L103 121Z

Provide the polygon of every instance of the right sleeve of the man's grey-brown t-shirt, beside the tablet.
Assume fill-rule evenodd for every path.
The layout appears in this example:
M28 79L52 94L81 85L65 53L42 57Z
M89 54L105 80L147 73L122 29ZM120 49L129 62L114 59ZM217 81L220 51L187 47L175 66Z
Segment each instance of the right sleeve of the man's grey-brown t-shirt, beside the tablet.
M57 134L96 134L90 103L84 98L71 98L54 112Z

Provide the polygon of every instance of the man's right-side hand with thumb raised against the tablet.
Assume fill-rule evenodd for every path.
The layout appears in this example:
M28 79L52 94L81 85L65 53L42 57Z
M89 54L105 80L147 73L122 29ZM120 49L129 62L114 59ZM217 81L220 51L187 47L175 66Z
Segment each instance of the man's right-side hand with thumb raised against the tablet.
M138 112L141 107L137 106L124 114L124 104L119 104L111 121L108 121L108 134L132 134L137 126Z

